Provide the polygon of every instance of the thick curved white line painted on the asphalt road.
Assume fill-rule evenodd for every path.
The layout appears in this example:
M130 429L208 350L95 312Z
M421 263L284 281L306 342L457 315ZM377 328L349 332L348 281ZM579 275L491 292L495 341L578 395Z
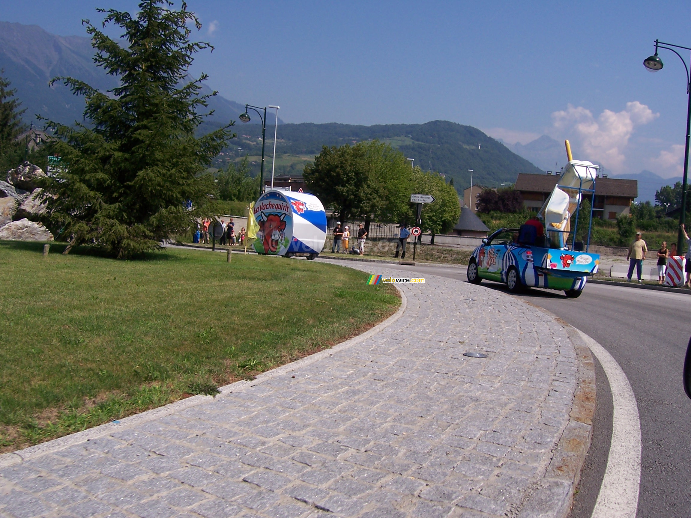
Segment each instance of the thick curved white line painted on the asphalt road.
M635 518L641 485L641 422L629 380L609 352L582 331L586 345L603 366L612 390L612 443L605 477L591 518Z

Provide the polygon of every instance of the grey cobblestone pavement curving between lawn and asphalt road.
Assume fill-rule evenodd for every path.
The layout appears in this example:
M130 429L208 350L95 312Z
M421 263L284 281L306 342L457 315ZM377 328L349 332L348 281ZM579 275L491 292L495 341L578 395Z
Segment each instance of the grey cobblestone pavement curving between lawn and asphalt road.
M0 515L531 515L576 389L567 331L482 286L399 286L403 316L356 345L12 466L22 451L1 456Z

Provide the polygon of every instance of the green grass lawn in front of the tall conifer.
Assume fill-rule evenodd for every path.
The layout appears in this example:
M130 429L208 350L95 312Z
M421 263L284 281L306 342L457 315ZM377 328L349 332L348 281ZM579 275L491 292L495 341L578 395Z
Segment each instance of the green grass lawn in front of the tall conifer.
M305 260L42 247L0 242L0 451L214 394L399 306L363 272Z

